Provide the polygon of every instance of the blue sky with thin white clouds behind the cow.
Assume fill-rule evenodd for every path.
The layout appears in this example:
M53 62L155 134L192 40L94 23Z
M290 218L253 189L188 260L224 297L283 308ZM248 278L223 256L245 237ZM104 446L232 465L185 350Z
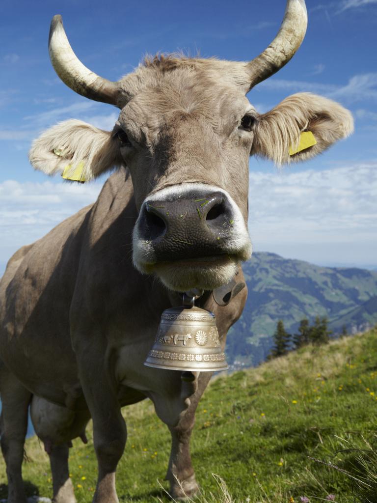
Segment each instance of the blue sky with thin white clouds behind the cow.
M248 60L275 36L284 0L0 3L0 274L22 244L96 198L103 180L71 186L34 172L39 132L68 118L111 129L115 108L74 94L49 62L54 14L93 71L111 80L143 55L183 50ZM264 112L296 92L349 108L356 130L314 160L278 172L250 161L250 233L256 250L320 264L377 267L377 0L307 1L309 26L292 61L248 98Z

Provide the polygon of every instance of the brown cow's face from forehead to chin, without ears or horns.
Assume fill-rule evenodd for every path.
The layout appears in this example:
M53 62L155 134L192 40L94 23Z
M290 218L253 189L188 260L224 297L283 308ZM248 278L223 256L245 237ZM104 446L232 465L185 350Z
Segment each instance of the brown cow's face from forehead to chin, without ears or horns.
M139 209L135 266L174 290L212 289L251 256L247 194L256 112L236 86L211 81L208 69L190 60L186 68L179 63L171 69L165 62L168 71L160 60L145 68L142 81L153 75L153 86L125 105L113 134Z

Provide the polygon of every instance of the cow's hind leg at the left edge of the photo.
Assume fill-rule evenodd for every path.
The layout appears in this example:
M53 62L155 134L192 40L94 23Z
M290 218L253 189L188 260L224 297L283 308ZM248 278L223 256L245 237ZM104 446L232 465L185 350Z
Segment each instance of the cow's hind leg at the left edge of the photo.
M1 447L7 465L8 503L26 503L22 480L31 393L0 364Z

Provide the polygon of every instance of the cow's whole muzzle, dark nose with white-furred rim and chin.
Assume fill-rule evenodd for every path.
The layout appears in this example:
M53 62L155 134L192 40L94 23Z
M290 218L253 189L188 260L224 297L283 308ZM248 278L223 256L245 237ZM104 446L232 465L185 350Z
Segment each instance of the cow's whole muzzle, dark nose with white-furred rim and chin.
M242 214L226 191L182 184L148 197L133 236L134 264L174 290L216 288L251 255Z

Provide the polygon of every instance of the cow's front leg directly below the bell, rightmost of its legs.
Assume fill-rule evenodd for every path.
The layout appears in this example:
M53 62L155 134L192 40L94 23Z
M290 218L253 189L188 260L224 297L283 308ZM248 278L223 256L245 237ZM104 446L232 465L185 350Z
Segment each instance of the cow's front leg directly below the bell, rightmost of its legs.
M185 373L189 375L189 373ZM192 374L193 375L193 374ZM195 412L212 372L196 373L193 382L183 381L179 396L151 395L156 413L168 426L171 434L171 451L166 480L170 495L175 500L185 500L199 492L199 485L190 455L190 439L195 424ZM189 375L190 379L190 375Z

